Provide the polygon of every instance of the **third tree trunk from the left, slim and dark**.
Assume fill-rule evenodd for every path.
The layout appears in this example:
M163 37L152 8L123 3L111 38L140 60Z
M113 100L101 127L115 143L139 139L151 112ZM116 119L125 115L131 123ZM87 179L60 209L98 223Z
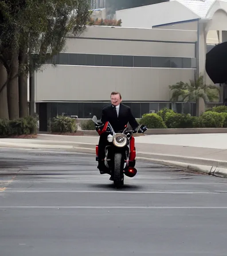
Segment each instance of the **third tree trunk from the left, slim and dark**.
M19 65L22 67L24 64L27 64L27 54L23 51L19 53ZM19 116L25 117L28 116L28 107L27 107L27 74L23 69L20 72L18 77L18 86L19 86Z

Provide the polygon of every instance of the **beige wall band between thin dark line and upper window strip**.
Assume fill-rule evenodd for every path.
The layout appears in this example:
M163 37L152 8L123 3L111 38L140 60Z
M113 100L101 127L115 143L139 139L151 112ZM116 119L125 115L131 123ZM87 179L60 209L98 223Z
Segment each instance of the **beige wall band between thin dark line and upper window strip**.
M195 58L195 44L165 43L164 41L123 41L67 39L64 52L131 56L168 56Z

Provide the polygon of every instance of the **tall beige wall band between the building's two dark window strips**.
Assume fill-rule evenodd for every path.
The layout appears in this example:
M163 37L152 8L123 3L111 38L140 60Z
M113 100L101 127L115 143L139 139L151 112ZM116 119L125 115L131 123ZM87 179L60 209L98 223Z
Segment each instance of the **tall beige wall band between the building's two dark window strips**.
M124 100L169 100L168 85L193 79L187 68L117 68L44 66L36 74L36 101L109 100L120 91Z

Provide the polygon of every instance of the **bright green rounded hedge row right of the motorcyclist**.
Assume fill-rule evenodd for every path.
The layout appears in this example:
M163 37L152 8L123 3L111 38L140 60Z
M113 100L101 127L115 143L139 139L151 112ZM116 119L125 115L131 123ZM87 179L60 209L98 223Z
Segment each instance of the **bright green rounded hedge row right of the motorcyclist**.
M140 120L150 129L164 128L227 128L227 107L220 106L207 110L201 116L175 113L162 109L153 114L144 114Z

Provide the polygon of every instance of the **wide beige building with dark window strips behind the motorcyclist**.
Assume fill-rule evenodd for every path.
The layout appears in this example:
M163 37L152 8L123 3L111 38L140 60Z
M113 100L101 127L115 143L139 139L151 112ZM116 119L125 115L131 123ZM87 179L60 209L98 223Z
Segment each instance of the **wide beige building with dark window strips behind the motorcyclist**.
M105 26L68 37L64 51L35 74L40 125L63 113L100 116L112 91L121 92L137 118L169 107L168 86L194 78L196 41L196 31ZM192 104L184 111L193 112Z

